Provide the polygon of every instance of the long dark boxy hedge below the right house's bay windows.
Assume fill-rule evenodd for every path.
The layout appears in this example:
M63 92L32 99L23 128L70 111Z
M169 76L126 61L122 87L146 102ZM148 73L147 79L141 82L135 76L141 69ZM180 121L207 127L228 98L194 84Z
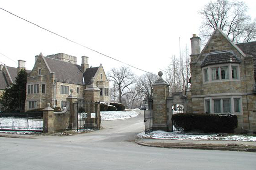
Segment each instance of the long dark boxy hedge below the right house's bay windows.
M231 133L237 128L237 116L234 114L180 113L172 115L172 123L177 130Z

